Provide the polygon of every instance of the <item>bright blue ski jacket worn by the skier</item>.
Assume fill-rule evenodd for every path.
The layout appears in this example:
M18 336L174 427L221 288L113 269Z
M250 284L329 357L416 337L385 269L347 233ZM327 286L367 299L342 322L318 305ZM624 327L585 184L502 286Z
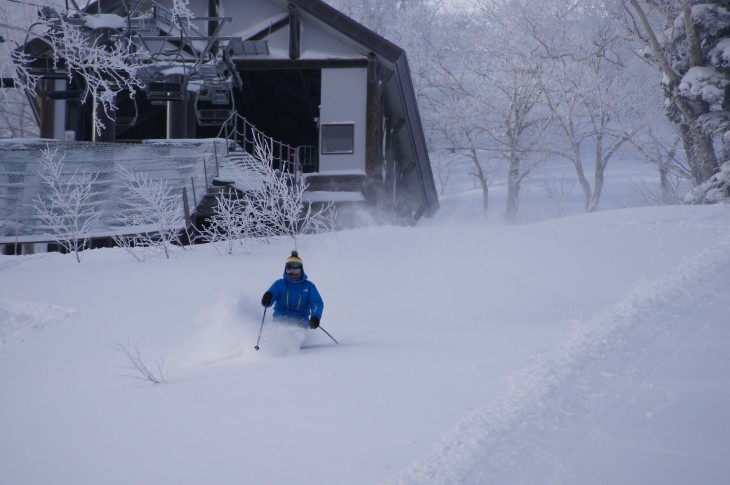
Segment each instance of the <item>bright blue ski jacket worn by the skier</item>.
M302 272L301 278L293 280L284 272L284 277L274 281L269 291L273 297L267 306L274 305L275 319L308 325L310 316L322 318L324 302L306 273Z

